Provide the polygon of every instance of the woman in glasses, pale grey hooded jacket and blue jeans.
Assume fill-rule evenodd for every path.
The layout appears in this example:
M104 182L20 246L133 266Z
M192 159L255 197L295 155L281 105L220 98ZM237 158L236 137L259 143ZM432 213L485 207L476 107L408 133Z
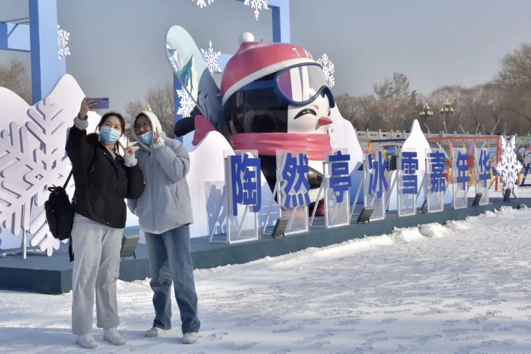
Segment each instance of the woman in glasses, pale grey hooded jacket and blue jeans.
M144 173L144 192L127 205L138 216L148 246L155 320L146 337L159 337L172 328L170 286L181 312L183 343L199 338L198 298L195 293L190 228L192 206L186 174L190 158L186 148L166 137L157 116L141 111L134 121L138 165Z

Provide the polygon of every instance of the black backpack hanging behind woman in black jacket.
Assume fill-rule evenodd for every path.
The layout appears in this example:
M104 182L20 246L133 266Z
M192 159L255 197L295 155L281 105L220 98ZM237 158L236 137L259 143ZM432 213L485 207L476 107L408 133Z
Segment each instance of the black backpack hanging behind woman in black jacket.
M72 177L72 172L68 175L63 187L49 187L50 196L44 202L44 209L46 211L46 221L52 236L57 240L70 240L68 244L68 255L70 261L74 260L74 252L72 250L72 224L74 223L74 206L66 194L66 186ZM74 202L75 203L75 202Z

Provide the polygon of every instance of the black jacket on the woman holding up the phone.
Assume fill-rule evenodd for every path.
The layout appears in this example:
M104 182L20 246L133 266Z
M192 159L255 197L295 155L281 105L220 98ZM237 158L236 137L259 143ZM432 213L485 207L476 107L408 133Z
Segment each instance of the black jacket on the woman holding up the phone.
M99 141L87 141L87 131L70 128L66 154L72 162L75 213L105 226L125 227L125 198L142 195L144 177L138 166L127 167Z

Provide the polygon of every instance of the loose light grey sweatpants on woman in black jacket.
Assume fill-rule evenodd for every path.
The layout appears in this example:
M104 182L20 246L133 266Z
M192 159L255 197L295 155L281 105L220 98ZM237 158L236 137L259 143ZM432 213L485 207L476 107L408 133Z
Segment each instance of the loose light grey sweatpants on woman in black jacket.
M122 230L93 222L79 214L72 228L72 333L92 331L94 290L98 328L118 326L116 280L120 269Z

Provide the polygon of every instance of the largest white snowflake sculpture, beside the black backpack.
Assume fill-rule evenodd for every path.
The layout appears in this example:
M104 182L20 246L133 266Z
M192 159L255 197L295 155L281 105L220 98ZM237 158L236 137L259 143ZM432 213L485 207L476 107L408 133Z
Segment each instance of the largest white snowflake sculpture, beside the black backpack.
M61 111L44 100L28 110L31 120L25 125L11 123L0 133L0 223L13 235L22 228L32 234L30 244L47 255L59 241L49 232L42 205L48 187L62 184L71 168L64 151L71 117Z

